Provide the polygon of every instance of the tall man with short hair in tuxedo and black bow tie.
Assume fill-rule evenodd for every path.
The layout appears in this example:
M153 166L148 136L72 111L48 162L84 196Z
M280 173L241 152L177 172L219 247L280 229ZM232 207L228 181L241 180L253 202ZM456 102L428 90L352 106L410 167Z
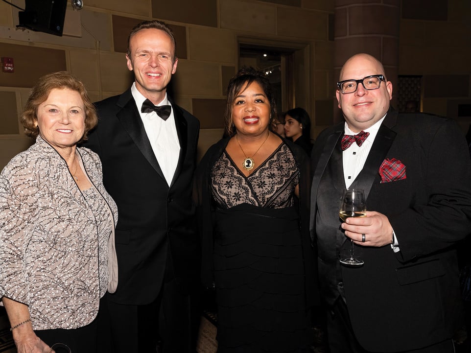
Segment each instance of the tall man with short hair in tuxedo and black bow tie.
M102 352L148 353L161 341L161 352L194 352L190 294L200 247L191 183L199 121L166 94L178 59L165 23L134 27L126 60L135 82L96 103L98 126L85 143L100 156L118 205L118 288L100 306L99 344Z

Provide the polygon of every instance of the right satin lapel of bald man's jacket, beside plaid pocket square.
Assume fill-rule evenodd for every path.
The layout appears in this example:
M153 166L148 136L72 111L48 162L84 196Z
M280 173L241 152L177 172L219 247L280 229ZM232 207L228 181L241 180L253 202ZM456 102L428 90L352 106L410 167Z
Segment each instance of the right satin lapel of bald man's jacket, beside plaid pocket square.
M383 123L379 126L373 146L371 146L365 165L357 177L356 188L365 191L365 199L368 205L368 195L375 180L379 179L378 170L386 157L389 148L396 137L396 132L388 126L396 125L397 113L389 111Z

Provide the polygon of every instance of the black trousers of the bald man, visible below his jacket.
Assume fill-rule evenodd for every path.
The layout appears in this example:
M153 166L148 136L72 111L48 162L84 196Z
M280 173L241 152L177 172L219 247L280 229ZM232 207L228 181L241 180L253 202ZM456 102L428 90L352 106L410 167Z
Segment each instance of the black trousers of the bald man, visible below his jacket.
M364 350L356 340L347 305L341 298L338 298L328 311L327 336L330 353L375 353ZM454 353L454 346L453 341L449 339L418 350L397 353Z

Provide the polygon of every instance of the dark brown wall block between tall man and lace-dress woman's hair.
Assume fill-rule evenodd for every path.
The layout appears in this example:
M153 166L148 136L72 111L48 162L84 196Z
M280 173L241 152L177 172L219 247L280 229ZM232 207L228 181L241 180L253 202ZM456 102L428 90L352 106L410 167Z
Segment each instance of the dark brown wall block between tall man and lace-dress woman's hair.
M193 98L193 115L200 120L201 129L224 128L226 99Z

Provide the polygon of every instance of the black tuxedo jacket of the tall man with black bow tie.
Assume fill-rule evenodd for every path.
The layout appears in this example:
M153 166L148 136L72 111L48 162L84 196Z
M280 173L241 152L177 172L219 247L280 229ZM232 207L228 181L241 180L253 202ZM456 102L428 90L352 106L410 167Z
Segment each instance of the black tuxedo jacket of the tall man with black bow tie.
M130 89L95 103L98 125L84 143L100 156L103 183L118 205L116 303L148 304L164 280L175 278L183 291L199 280L191 199L199 121L169 101L181 147L170 187Z

